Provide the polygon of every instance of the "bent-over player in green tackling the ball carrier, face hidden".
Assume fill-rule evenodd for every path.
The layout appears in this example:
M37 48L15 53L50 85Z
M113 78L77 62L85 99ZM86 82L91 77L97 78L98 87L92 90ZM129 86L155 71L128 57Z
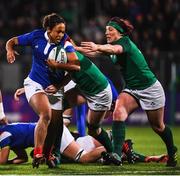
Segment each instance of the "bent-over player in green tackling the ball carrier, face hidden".
M111 153L111 141L109 140L106 131L100 127L106 112L111 108L111 86L107 78L93 62L79 52L76 52L76 55L78 56L80 63L79 71L68 71L68 68L65 67L66 64L61 64L50 59L47 63L52 68L68 71L69 74L66 75L68 81L66 80L66 83L71 79L76 83L74 88L65 92L64 97L68 102L68 106L73 107L87 102L89 108L87 113L88 134L97 139L106 150ZM64 85L66 84L63 82L61 86ZM46 88L46 92L55 93L59 88L59 86L55 87L54 85L51 85ZM108 157L114 158L112 155ZM121 161L116 159L112 159L112 162L116 165L121 164Z

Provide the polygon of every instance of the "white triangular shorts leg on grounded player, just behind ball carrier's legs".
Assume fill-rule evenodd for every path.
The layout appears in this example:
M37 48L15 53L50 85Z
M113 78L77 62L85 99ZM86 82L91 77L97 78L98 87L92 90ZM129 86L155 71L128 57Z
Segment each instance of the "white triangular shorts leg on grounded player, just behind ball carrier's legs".
M68 147L68 145L74 141L74 137L70 133L70 131L67 129L67 127L64 125L63 127L63 134L61 138L61 147L60 152L63 153L64 150Z

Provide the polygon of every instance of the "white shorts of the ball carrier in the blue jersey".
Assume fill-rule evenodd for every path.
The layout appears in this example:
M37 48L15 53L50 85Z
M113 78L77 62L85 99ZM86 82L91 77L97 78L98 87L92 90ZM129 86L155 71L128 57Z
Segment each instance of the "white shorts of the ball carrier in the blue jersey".
M43 87L29 77L24 80L24 89L28 102L30 101L31 97L36 93L42 92L46 94ZM63 110L63 90L59 90L56 94L47 96L49 98L52 109Z

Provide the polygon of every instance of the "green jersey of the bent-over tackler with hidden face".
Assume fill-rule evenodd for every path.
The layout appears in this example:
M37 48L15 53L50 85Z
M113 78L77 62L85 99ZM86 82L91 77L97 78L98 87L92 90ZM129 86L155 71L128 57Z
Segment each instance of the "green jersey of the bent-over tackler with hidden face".
M76 52L76 54L81 69L80 71L70 72L70 75L78 88L88 95L95 95L103 91L108 85L108 80L104 74L86 56L79 52Z

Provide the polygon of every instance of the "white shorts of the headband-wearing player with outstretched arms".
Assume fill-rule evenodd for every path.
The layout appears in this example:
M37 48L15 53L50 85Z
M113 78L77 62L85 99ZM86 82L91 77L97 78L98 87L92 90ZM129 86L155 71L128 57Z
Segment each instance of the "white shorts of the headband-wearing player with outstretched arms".
M134 96L143 110L156 110L165 106L164 90L158 80L144 90L126 88L122 92L127 92Z

